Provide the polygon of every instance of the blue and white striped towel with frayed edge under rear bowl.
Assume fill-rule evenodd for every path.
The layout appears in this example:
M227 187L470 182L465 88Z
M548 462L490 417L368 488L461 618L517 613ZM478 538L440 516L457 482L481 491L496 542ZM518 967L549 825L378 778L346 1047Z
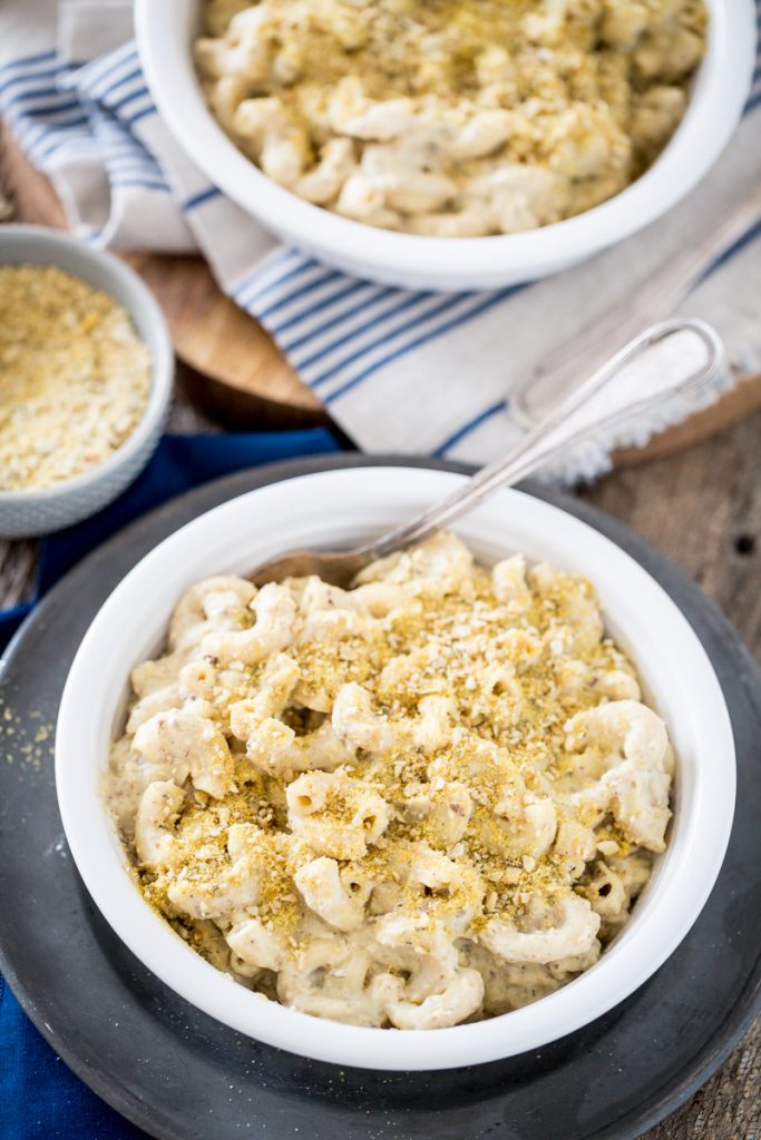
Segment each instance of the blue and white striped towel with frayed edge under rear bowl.
M160 2L160 0L157 0ZM126 0L5 0L0 112L52 180L72 228L120 249L200 249L365 450L483 463L520 433L510 390L551 349L625 299L761 182L761 65L710 176L646 231L549 280L484 293L411 293L347 277L265 234L189 162L159 117ZM115 46L116 44L116 46ZM721 332L740 373L761 370L761 221L704 279L689 312ZM688 414L688 409L685 409ZM565 475L645 442L630 425Z

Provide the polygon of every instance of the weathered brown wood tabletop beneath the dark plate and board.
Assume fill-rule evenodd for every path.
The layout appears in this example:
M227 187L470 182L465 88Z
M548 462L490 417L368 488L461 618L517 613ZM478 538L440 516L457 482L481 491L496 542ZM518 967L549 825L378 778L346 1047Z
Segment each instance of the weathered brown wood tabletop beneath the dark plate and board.
M188 271L191 298L196 271ZM187 399L187 394L199 398L192 370L184 386L186 394L178 396L170 426L208 430L209 420L202 418ZM241 426L272 424L268 397L264 399L258 408L249 407ZM746 393L740 399L745 400ZM213 400L203 406L207 413L218 412ZM688 450L661 458L654 457L658 448L647 455L638 453L629 459L635 459L637 466L615 471L581 495L678 562L717 602L761 660L761 412L752 407L748 398L742 408L744 418L731 426L712 421L709 439L702 438L701 431L690 432L681 441L690 445ZM306 404L302 410L308 417ZM0 542L0 606L31 593L35 551L32 543ZM564 1140L561 1125L559 1129L548 1140ZM646 1140L761 1140L761 1021L715 1076L667 1121L650 1130Z

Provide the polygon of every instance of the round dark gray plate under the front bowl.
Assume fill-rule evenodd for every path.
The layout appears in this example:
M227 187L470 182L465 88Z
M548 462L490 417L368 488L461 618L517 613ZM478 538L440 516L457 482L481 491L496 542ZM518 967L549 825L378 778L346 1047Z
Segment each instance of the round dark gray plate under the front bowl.
M574 499L536 491L628 549L681 606L723 686L739 766L731 841L705 910L655 977L610 1013L540 1052L445 1073L303 1060L217 1024L144 969L100 919L67 853L50 749L35 736L55 722L68 665L106 595L157 542L227 498L379 462L277 464L195 490L106 543L38 606L0 679L0 706L13 717L0 722L0 968L71 1068L161 1140L638 1137L707 1080L760 1004L761 674L691 581Z

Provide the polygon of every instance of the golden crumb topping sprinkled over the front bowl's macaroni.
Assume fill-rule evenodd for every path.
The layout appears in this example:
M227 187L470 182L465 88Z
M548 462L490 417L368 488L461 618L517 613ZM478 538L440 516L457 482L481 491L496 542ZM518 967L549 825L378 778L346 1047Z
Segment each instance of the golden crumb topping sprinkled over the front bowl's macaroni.
M284 585L297 598L305 588L303 580ZM580 864L553 845L536 857L526 855L525 811L537 798L552 798L568 773L575 788L584 785L578 757L566 747L566 722L607 699L601 678L616 671L634 683L634 669L612 640L600 636L594 592L583 578L553 572L551 580L528 586L520 602L501 601L491 573L480 567L452 588L414 576L402 586L403 604L367 617L362 632L346 632L338 642L310 640L305 618L297 618L296 644L284 656L297 667L298 687L280 723L297 739L314 732L325 715L301 701L308 705L321 694L330 707L342 686L362 684L397 733L396 746L379 754L361 750L341 765L337 774L346 780L329 789L319 817L326 826L351 830L358 790L364 795L370 789L391 806L391 819L365 856L339 860L341 872L356 872L381 888L398 887L399 905L414 913L440 918L470 912L463 934L476 936L491 918L519 921L537 898L545 905L560 901L584 873L583 860ZM232 625L240 630L253 622L238 613ZM568 653L583 684L566 683ZM232 706L260 694L266 669L204 660L205 699L230 740L235 783L220 799L189 793L173 828L171 865L141 868L139 882L160 913L185 937L196 938L197 923L183 917L168 889L178 881L192 886L213 910L221 877L234 865L229 829L250 825L261 889L248 913L286 934L296 952L308 934L299 931L293 876L315 857L288 823L285 793L298 773L262 774L230 728ZM431 697L450 700L451 726L445 741L428 748L410 735L408 725ZM463 789L472 805L454 844L437 815L437 807L447 805L456 815L453 787ZM572 809L561 796L557 804L560 821L570 819L588 829L601 823L593 807ZM633 849L610 816L598 834L622 855ZM410 880L407 869L429 850L456 860L463 872L456 889L427 891Z

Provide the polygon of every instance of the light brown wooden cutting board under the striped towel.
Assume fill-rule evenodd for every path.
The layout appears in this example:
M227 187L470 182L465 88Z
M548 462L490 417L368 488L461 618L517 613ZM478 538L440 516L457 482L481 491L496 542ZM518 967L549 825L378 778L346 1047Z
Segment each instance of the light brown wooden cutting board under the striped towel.
M7 131L0 136L0 186L15 198L21 220L66 228L50 182L31 166ZM202 258L123 256L155 293L183 365L180 381L201 410L238 430L330 422L265 329L221 293ZM647 447L616 453L615 465L671 455L759 407L761 376L744 380L713 407L655 437Z

